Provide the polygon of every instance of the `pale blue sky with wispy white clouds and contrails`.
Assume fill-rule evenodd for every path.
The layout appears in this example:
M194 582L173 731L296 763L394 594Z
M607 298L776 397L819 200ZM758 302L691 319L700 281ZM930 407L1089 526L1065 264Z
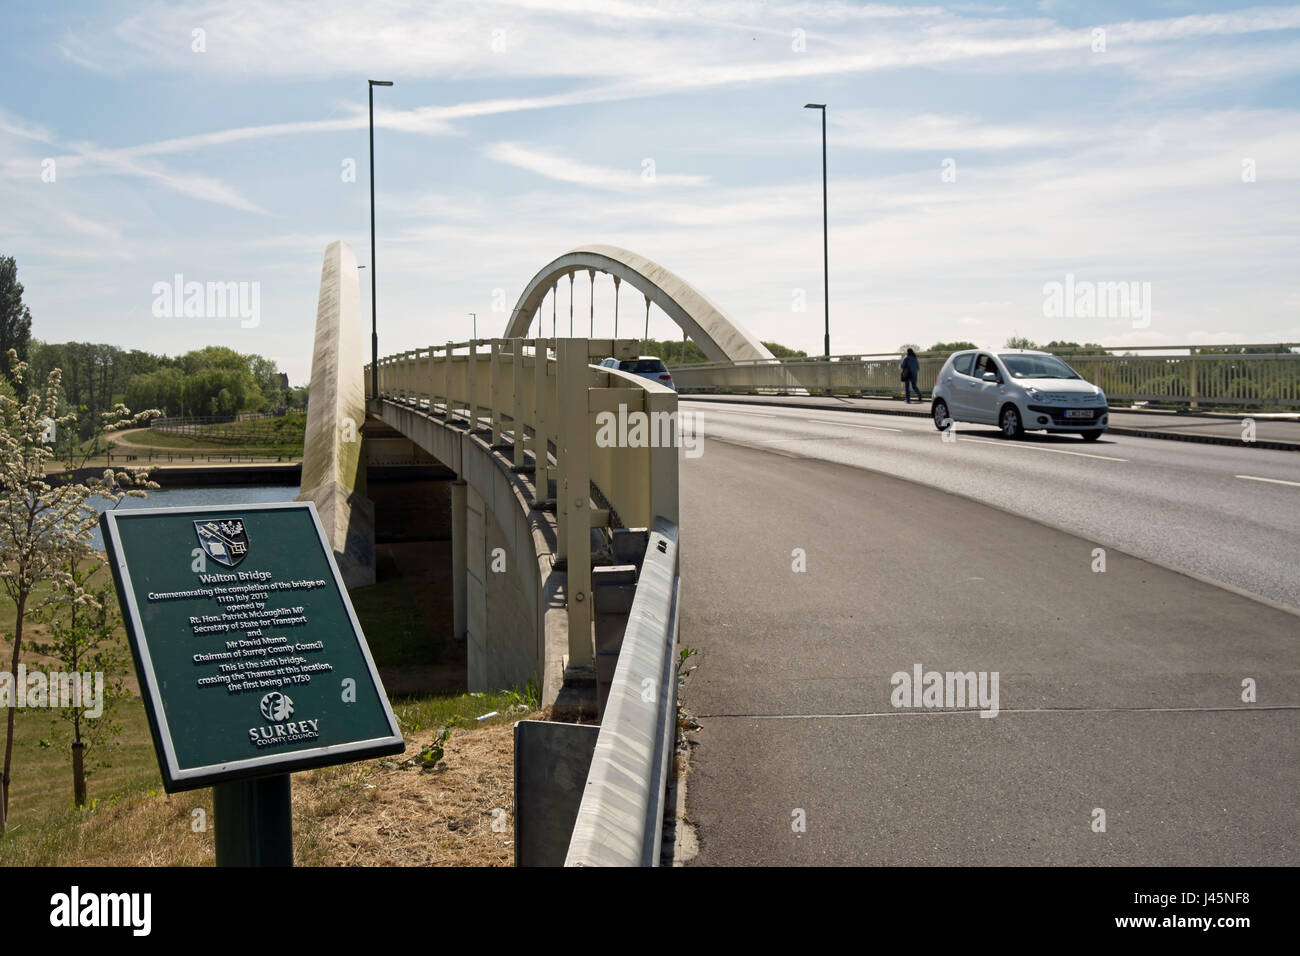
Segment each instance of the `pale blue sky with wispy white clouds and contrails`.
M32 334L311 371L325 247L380 351L504 332L590 243L764 341L1300 341L1300 5L0 0L0 255ZM161 286L238 284L256 316ZM1140 308L1052 308L1134 284ZM575 285L575 332L590 286ZM256 294L256 298L252 298ZM597 277L598 336L614 286ZM1057 299L1060 302L1060 299ZM555 303L567 332L569 293ZM550 299L543 306L550 330ZM620 332L644 332L627 285ZM534 326L536 333L536 326ZM650 334L680 338L651 310Z

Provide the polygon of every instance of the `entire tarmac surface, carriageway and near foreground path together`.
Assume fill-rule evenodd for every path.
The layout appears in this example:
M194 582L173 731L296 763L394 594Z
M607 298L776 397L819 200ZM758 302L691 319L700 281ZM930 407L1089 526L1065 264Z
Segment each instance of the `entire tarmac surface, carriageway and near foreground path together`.
M1296 604L1300 486L1238 477L1294 457L705 411L694 864L1300 860L1300 618L1252 597ZM916 665L997 672L998 715L894 706Z

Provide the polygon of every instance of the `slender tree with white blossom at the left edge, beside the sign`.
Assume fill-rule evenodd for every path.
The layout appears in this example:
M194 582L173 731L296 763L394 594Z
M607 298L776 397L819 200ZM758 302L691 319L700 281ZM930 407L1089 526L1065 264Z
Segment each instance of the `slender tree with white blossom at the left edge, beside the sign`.
M27 363L9 350L10 378L22 384ZM131 468L78 479L77 471L95 454L99 436L91 450L82 453L77 442L65 445L66 460L61 470L52 447L58 432L74 434L75 415L58 412L61 372L49 372L44 389L31 388L26 401L0 394L0 584L14 604L13 653L9 672L17 675L22 659L22 628L29 613L36 610L34 594L38 585L51 585L51 592L38 604L72 600L84 606L96 604L69 570L84 558L86 541L99 518L91 498L101 496L117 505L126 496L144 497L146 488L157 488L148 480L148 468ZM131 415L118 405L101 418L99 433L117 431L157 415L156 410ZM79 458L79 460L78 460ZM64 471L65 473L60 473ZM58 480L52 480L52 479ZM9 701L5 721L4 771L0 777L0 835L9 816L9 783L13 763L14 718L17 695Z

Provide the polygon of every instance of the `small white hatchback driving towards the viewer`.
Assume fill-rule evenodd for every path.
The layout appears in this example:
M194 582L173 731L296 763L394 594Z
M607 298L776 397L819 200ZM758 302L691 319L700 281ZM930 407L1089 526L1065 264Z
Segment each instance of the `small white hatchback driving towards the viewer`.
M1106 431L1106 394L1050 352L972 349L948 356L935 382L935 427L997 425L1004 438L1026 431L1074 432L1096 441Z

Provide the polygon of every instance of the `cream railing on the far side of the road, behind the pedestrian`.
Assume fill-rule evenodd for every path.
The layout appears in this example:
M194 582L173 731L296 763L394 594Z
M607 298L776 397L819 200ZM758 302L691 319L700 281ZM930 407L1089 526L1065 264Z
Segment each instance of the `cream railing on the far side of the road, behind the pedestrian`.
M1244 349L1247 346L1214 346ZM1258 346L1253 346L1258 347ZM1300 354L1288 345L1278 351L1205 354L1206 346L1127 349L1131 355L1061 351L1061 359L1119 402L1166 405L1258 405L1300 407ZM993 350L996 351L996 350ZM1141 354L1147 352L1147 354ZM1162 354L1150 354L1162 352ZM1184 354L1170 354L1184 352ZM924 392L949 352L918 352L918 384ZM845 355L824 359L780 359L682 365L673 369L677 388L690 390L812 390L889 394L900 390L898 354Z

